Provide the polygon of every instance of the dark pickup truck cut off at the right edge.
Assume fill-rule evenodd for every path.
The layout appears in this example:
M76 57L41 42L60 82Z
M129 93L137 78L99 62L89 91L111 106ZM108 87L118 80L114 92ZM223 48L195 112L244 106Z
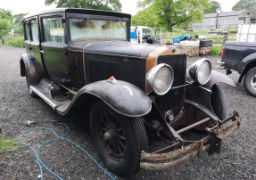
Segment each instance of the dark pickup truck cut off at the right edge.
M227 41L222 49L220 69L237 70L240 75L238 83L244 78L244 87L249 94L256 97L256 43Z

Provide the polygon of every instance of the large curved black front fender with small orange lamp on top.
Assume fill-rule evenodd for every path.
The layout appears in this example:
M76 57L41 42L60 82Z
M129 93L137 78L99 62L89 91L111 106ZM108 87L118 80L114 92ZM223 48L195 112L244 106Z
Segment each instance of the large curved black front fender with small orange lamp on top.
M152 110L152 101L140 88L118 80L116 84L107 80L97 81L82 87L73 102L97 97L112 110L128 117L145 116Z

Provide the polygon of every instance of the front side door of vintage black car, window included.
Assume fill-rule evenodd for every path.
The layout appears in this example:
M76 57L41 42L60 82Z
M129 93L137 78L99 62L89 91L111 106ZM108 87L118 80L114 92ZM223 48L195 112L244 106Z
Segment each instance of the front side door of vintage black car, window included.
M54 82L70 83L70 73L65 44L65 29L62 16L41 16L42 43L45 69Z

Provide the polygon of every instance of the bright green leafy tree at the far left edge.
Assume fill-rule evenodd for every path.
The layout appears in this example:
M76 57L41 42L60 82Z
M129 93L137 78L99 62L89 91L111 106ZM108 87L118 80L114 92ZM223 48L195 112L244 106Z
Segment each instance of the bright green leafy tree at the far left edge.
M0 9L0 37L2 44L4 44L4 36L12 30L12 12L4 9Z

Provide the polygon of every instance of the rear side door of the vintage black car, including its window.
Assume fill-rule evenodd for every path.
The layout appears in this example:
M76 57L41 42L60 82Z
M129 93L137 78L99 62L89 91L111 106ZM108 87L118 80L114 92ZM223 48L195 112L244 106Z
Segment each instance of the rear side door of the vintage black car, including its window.
M25 48L29 53L30 60L34 61L37 72L41 77L45 77L44 62L40 53L40 39L37 16L24 21L25 27Z

